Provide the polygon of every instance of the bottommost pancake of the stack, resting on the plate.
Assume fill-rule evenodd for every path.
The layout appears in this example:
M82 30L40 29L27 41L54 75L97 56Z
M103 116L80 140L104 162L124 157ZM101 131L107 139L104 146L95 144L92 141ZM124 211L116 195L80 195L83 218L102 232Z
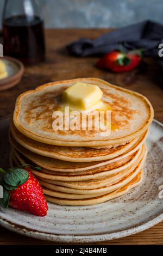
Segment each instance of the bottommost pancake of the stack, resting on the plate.
M127 185L123 186L122 188L115 190L111 193L104 194L102 196L98 196L95 198L89 198L89 199L63 199L63 198L58 198L58 197L52 197L52 196L46 196L46 199L49 202L55 203L55 204L60 204L60 205L74 205L74 206L79 206L79 205L93 205L93 204L99 204L106 202L110 199L120 197L123 194L127 193L131 188L134 188L135 186L138 186L140 182L142 181L143 178L143 171L141 170L133 180L128 182Z

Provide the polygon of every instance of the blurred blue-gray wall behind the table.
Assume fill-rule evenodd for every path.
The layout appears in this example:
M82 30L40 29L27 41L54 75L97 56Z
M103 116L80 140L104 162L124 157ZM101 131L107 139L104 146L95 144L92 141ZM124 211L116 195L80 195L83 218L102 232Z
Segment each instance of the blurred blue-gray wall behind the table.
M0 19L3 4L0 0ZM163 0L40 0L40 4L47 28L122 27L146 19L163 23Z

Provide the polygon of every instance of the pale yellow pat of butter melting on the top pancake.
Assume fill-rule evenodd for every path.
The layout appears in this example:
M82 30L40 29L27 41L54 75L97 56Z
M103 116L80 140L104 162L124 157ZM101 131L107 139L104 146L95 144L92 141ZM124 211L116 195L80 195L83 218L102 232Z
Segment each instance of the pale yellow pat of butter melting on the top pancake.
M103 102L100 102L102 95L103 92L98 86L77 82L65 90L62 94L62 102L78 109L86 110L92 107L97 109L98 107L94 108L94 106L96 103L102 106Z

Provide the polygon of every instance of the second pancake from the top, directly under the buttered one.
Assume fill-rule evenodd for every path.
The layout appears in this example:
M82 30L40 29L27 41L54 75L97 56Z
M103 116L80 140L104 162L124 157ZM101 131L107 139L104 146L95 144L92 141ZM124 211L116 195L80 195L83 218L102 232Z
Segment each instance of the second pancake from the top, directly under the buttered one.
M84 147L59 147L33 141L33 139L30 139L19 132L13 125L12 121L10 124L10 131L14 139L29 151L38 155L70 162L96 162L112 159L130 151L136 143L140 143L140 140L146 139L147 137L146 131L145 135L142 135L144 136L143 138L141 136L130 143L126 143L125 145L110 149L92 149Z

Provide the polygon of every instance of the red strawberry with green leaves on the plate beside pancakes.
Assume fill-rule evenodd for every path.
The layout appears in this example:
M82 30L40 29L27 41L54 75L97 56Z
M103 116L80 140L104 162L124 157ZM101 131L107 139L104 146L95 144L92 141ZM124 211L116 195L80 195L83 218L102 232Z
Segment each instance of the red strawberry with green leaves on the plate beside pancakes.
M46 216L47 201L31 169L41 170L40 167L30 165L9 168L6 172L0 168L0 172L3 173L1 179L3 198L0 199L0 204L4 209L10 206L36 216Z

